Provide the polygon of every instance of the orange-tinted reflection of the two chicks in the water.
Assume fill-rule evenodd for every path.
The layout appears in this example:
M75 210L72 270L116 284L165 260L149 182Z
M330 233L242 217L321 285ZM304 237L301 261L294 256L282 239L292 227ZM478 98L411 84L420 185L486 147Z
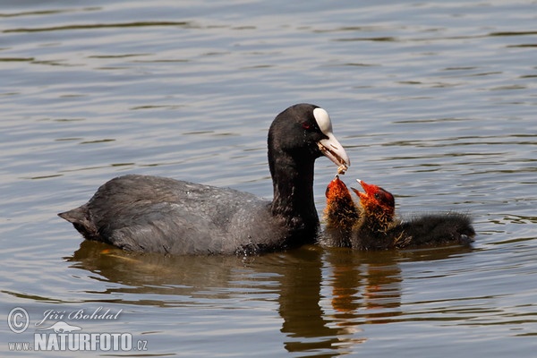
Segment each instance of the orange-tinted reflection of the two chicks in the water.
M332 288L332 314L328 320L337 327L340 354L351 352L354 345L364 343L360 336L365 324L387 324L402 315L402 268L400 262L444 260L454 254L473 250L467 246L414 251L354 251L329 249L325 260L331 268L325 278Z

